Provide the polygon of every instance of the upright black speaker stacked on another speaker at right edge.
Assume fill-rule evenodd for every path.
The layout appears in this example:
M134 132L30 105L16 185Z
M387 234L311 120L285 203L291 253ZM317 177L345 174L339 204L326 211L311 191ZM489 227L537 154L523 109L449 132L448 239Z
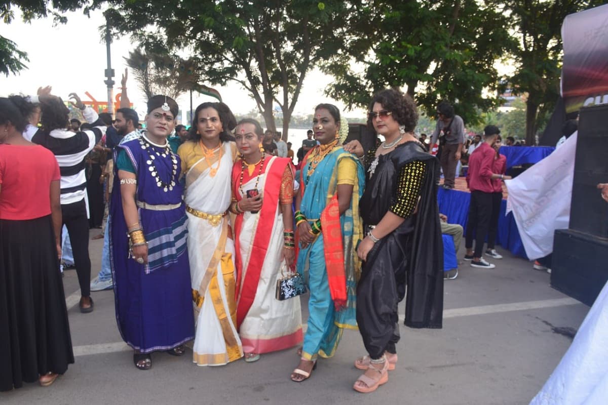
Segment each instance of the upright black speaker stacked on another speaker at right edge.
M570 229L608 238L608 203L598 183L608 183L608 104L581 109L576 141Z

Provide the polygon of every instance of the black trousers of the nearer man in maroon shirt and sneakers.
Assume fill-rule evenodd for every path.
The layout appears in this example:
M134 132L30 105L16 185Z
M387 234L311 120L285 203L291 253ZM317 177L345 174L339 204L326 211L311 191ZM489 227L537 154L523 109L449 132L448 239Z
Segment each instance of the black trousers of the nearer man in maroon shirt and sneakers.
M473 257L482 257L483 243L488 234L489 222L492 216L492 193L471 191L469 204L469 222L466 224L465 247L473 247L473 233L475 233L475 253Z

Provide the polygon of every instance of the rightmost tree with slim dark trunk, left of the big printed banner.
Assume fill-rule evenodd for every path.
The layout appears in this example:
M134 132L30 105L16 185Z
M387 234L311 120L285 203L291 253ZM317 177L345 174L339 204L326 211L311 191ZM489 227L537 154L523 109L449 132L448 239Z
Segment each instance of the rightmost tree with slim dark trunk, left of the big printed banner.
M559 97L563 57L561 26L565 16L603 4L598 0L491 1L491 6L510 14L511 29L519 46L513 50L517 64L511 78L517 94L527 93L526 145L535 145L539 125L551 114Z

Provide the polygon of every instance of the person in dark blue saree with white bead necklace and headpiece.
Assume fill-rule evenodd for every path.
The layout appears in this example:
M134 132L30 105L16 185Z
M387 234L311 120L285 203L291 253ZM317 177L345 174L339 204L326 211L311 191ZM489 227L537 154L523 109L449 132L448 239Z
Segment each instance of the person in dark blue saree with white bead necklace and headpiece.
M170 97L150 98L147 132L114 152L109 231L116 320L140 370L152 366L151 352L183 355L195 336L181 164L167 142L177 114Z

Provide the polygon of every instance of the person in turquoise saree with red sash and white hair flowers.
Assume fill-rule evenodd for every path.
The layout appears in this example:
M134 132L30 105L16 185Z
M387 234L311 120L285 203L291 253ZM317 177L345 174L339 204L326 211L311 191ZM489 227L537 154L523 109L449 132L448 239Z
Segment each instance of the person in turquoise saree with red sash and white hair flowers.
M336 106L316 107L313 131L320 145L302 162L295 200L300 245L296 267L310 290L302 357L291 374L296 382L309 378L318 356L334 355L344 328L356 329L354 301L361 273L354 247L363 232L359 216L363 166L342 148L348 124L340 121Z

